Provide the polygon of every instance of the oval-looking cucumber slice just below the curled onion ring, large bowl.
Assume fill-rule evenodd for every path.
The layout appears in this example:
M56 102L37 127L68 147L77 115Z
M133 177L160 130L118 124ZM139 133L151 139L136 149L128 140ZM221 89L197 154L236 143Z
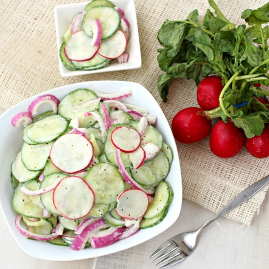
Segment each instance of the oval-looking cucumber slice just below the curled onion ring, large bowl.
M27 127L28 138L37 143L50 142L67 129L67 120L59 115L52 115L35 121Z

